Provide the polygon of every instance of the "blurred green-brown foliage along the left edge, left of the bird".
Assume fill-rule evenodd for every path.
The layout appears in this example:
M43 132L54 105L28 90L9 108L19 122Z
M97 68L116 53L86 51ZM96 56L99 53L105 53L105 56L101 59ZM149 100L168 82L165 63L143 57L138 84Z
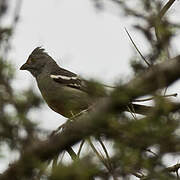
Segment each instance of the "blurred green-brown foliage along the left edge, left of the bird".
M8 6L7 1L0 1L0 20L3 20ZM37 136L37 128L27 114L32 108L39 107L41 99L32 89L17 92L12 86L15 69L5 49L10 47L14 23L9 27L4 27L3 23L0 25L0 146L6 143L11 150L22 151L33 136Z

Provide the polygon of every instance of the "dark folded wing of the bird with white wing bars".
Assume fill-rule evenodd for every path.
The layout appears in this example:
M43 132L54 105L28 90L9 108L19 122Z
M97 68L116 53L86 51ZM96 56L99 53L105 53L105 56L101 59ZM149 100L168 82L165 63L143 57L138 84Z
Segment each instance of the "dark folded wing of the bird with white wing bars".
M71 71L58 67L51 73L50 77L61 85L84 91L83 80Z

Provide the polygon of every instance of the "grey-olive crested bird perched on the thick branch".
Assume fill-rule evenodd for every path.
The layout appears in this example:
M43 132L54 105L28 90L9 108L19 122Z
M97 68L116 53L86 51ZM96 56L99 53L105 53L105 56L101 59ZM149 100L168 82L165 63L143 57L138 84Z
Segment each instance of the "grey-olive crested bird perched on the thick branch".
M64 117L71 118L95 102L87 92L86 81L60 67L44 48L35 48L20 70L35 77L48 106Z

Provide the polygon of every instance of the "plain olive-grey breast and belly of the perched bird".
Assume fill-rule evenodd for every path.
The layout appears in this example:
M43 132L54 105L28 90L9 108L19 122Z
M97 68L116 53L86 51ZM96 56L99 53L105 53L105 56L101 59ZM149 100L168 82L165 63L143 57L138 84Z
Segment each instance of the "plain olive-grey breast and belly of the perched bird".
M37 82L48 106L65 117L69 118L90 105L88 95L81 90L61 85L51 78L39 78Z

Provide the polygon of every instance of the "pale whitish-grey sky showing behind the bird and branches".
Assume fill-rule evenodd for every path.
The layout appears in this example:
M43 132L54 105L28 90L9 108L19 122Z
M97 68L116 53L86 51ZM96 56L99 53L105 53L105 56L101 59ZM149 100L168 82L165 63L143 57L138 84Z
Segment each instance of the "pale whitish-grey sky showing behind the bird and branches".
M163 1L164 4L166 2ZM15 66L12 86L17 91L31 87L40 96L35 79L28 72L19 71L19 67L37 46L45 48L61 67L108 85L116 84L120 79L125 82L130 79L130 60L132 56L139 56L125 28L142 53L146 54L149 50L149 44L144 41L142 34L133 28L135 23L141 22L124 16L113 1L9 0L8 3L9 9L1 22L4 26L12 23L19 3L19 19L7 58ZM132 3L138 8L137 1ZM180 19L179 9L180 3L176 1L168 13L168 18L173 22ZM180 53L179 42L180 35L177 34L171 42L171 57ZM180 94L179 87L177 82L168 92ZM28 117L47 131L55 130L66 120L46 104L30 111ZM16 155L7 153L7 157L8 160L4 157L5 163L0 165L0 172L7 167L9 159L15 159Z

